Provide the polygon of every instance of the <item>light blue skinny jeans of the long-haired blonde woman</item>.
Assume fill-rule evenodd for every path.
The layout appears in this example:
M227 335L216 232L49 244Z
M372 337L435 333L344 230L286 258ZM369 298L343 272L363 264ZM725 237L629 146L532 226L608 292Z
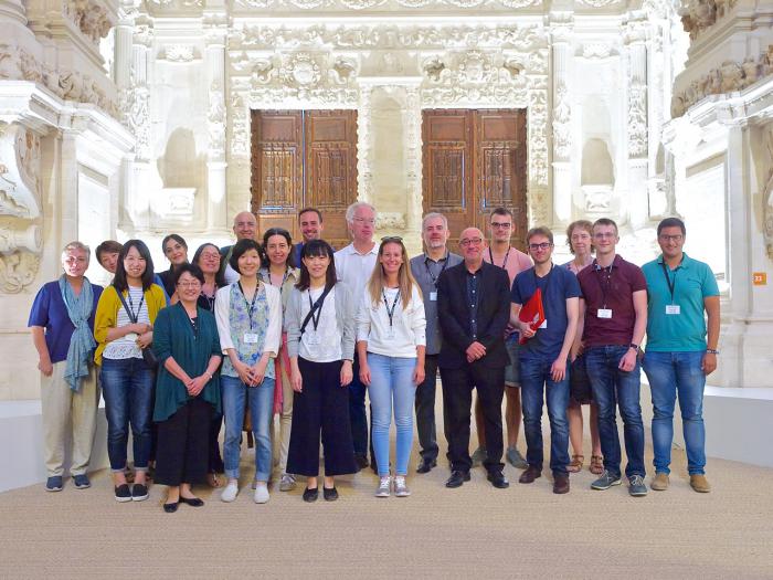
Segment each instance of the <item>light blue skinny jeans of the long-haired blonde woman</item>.
M373 452L379 475L389 475L389 428L398 428L395 473L407 474L407 462L413 446L413 401L416 387L413 384L415 358L384 357L368 352L370 367L370 403L372 407Z

